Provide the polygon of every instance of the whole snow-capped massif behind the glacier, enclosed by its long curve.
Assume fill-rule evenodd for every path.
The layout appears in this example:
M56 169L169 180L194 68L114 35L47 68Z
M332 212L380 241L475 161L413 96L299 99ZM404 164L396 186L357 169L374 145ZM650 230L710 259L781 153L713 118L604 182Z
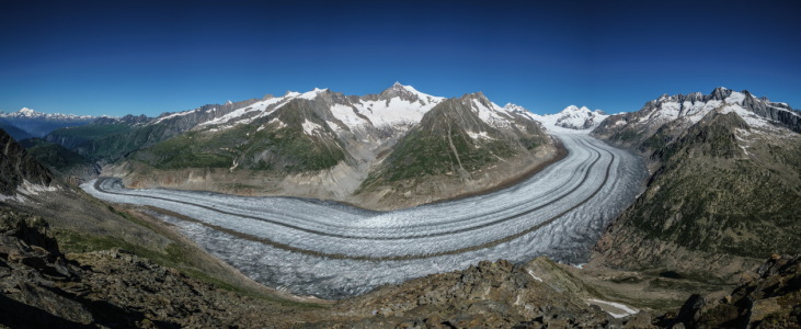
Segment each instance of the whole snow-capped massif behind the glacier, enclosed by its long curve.
M172 115L188 114L162 118ZM444 144L440 133L448 125L454 129ZM414 147L423 144L424 148ZM442 189L474 191L517 177L554 152L538 123L481 94L445 100L396 83L364 97L327 89L267 97L145 146L105 174L124 178L125 184L136 188L296 195L391 208L456 195L430 191L420 200L382 202L400 191L394 186L398 181L455 172L457 179ZM428 166L411 160L439 161L449 155L454 159L458 155L459 161ZM493 171L479 172L488 168ZM370 173L369 183L363 184ZM465 184L460 178L471 180ZM384 192L378 197L355 195L367 186Z

